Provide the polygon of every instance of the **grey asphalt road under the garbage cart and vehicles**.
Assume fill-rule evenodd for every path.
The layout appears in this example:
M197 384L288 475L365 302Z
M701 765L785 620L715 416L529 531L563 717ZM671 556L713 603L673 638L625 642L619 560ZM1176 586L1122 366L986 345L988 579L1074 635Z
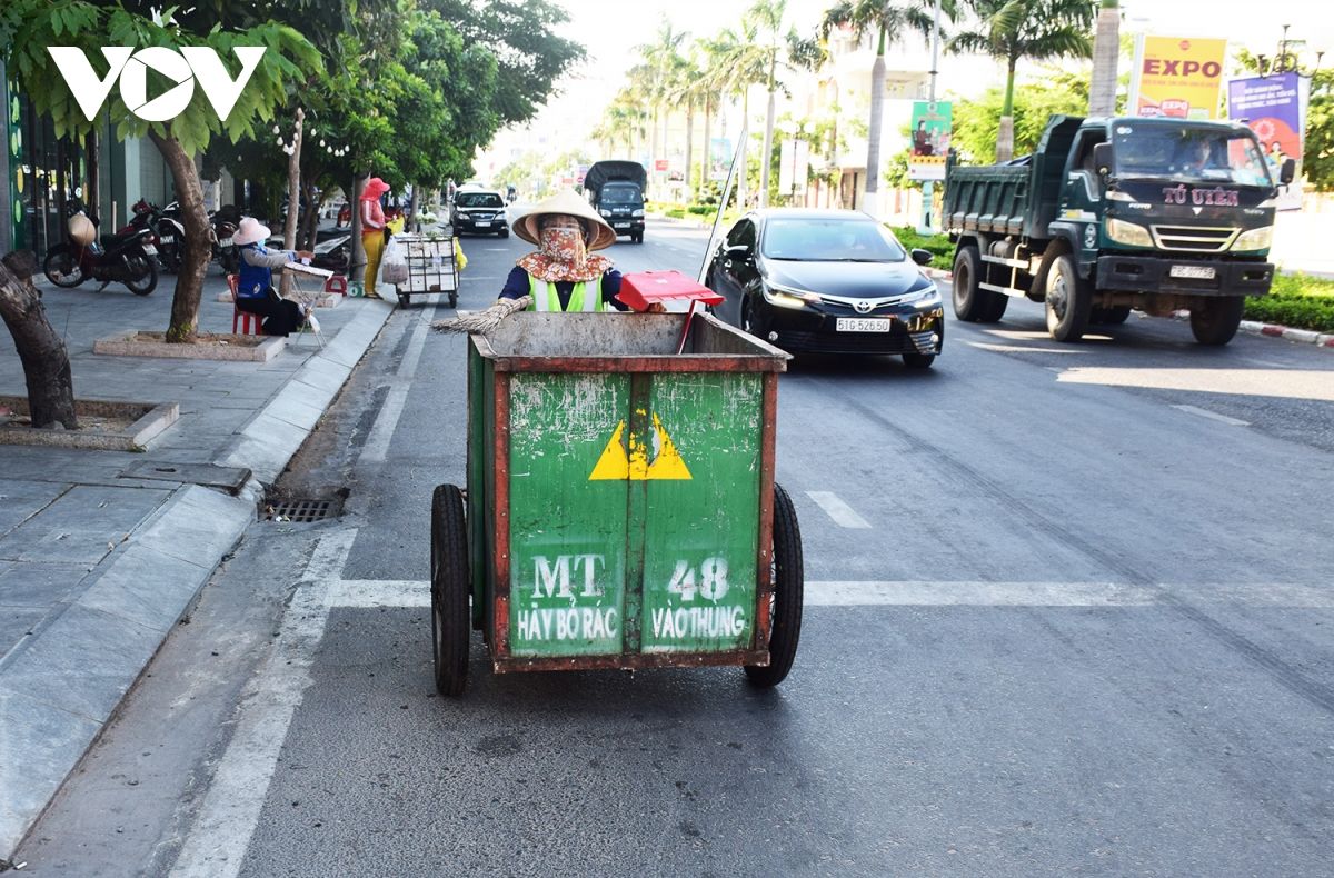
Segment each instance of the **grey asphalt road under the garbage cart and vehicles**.
M694 270L652 226L624 268ZM523 244L470 239L460 307ZM427 507L463 346L395 315L20 851L33 874L1323 874L1334 356L1037 306L930 372L796 362L792 675L431 682Z

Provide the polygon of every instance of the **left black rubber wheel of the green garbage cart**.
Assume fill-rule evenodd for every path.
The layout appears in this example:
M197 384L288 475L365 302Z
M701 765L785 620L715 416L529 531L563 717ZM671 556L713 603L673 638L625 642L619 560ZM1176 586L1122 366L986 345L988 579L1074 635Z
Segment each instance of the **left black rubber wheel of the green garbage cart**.
M471 588L463 494L442 484L431 496L431 643L435 687L442 695L462 695L468 682Z

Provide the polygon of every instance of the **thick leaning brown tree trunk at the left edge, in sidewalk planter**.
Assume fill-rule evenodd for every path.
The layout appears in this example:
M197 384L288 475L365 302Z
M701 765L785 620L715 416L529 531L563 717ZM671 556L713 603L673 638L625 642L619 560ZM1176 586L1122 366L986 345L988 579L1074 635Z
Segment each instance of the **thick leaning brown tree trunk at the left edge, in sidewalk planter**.
M41 296L32 286L37 258L31 250L0 260L0 318L9 327L28 383L28 412L33 427L77 430L75 384L69 354L51 328Z

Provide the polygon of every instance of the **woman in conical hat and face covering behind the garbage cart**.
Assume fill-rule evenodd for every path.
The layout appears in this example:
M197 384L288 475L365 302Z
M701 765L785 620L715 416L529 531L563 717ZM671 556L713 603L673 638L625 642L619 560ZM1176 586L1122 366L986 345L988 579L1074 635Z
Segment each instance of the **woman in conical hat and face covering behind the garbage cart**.
M610 259L591 252L614 244L616 232L574 189L536 205L514 223L514 234L538 250L515 263L500 299L531 295L530 311L607 311L608 304L628 310L615 299L620 272Z

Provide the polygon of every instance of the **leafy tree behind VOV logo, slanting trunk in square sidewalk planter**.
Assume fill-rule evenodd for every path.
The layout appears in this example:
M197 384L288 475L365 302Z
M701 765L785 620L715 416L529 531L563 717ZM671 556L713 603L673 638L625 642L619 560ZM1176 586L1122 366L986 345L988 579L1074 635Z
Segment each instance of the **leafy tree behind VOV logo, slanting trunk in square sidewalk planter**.
M233 48L263 45L268 49L225 120L217 117L203 89L195 89L181 115L165 123L148 123L131 113L119 89L112 89L107 99L105 112L115 123L116 136L147 136L172 169L185 224L185 252L167 338L171 342L192 342L209 258L208 216L195 155L217 135L227 135L235 141L253 135L272 120L275 109L285 101L288 88L303 79L304 71L317 65L319 52L296 29L269 20L256 19L256 23L243 28L228 28L221 20L215 20L205 29L207 19L195 19L187 27L171 19L169 11L164 15L168 17L159 24L120 5L88 0L7 0L0 8L0 47L9 75L31 96L36 111L52 119L56 135L76 137L91 132L95 123L83 115L47 52L48 45L81 48L99 76L107 75L100 51L105 44L172 49L208 47L217 52L232 77L240 72Z

